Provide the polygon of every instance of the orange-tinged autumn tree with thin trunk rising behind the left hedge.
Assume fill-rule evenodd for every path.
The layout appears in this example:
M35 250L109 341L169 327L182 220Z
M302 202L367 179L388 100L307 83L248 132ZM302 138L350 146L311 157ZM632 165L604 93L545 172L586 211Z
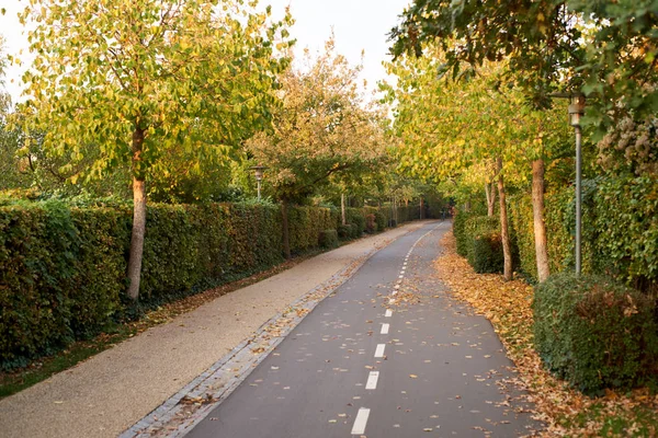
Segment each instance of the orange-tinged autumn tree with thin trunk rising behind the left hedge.
M271 186L282 201L284 251L287 245L287 206L326 187L349 170L367 172L384 155L383 116L364 101L359 68L334 53L333 41L306 70L291 69L282 77L283 106L274 113L273 132L248 142L253 161L271 168Z

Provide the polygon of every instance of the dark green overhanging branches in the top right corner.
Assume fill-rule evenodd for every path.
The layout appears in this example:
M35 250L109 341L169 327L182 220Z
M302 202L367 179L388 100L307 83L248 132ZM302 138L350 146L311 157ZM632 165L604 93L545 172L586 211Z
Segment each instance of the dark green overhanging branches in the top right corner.
M439 44L454 77L508 59L534 107L553 91L582 92L598 136L658 108L658 9L650 0L415 0L390 32L397 56Z

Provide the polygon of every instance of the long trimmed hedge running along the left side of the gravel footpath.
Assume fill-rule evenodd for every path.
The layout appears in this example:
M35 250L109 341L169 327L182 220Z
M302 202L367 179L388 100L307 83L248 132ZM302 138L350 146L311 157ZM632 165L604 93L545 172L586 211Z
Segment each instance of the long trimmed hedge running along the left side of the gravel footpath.
M365 210L291 207L293 253L361 237ZM372 212L377 221L377 209ZM378 218L378 220L382 220ZM134 312L125 297L132 208L0 205L0 369L25 366ZM330 230L330 231L327 231ZM330 235L329 235L330 234ZM283 261L280 206L149 204L140 302L156 306Z

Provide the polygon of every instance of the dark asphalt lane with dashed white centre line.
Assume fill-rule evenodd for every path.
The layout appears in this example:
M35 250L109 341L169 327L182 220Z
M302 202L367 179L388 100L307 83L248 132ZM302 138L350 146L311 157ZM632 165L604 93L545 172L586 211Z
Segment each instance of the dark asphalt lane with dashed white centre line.
M445 293L432 263L449 222L373 255L186 436L531 434L490 323Z

